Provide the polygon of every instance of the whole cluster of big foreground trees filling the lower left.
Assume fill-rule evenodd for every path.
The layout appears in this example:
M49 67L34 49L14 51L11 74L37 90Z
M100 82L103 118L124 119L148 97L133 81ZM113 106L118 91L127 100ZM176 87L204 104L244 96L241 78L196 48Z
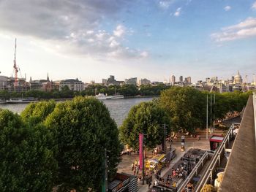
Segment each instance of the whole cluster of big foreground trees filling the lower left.
M120 161L118 128L101 101L76 97L0 110L0 191L100 191Z

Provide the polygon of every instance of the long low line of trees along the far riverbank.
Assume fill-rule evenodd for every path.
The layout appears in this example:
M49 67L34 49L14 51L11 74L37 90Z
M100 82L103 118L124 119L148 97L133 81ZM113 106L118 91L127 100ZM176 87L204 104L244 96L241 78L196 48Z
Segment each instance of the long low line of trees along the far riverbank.
M169 88L165 84L159 85L89 85L84 91L71 91L67 86L61 88L61 91L53 89L52 91L26 91L23 93L0 91L0 99L10 99L14 97L34 97L38 99L66 99L75 96L95 96L98 93L107 95L121 94L124 96L159 96L162 90Z

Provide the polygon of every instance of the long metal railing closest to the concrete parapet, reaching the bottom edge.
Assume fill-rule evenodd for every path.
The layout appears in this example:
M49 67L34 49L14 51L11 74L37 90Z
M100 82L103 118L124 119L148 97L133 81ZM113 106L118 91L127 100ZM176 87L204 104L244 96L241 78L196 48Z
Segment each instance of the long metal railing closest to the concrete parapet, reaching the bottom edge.
M206 185L209 178L211 178L211 180L213 180L214 168L216 167L217 162L219 162L219 164L220 164L220 155L222 155L222 153L224 152L226 143L230 142L230 136L233 134L233 129L237 125L240 125L240 123L233 123L230 126L229 130L227 131L227 134L225 135L225 138L222 140L221 145L219 145L216 152L214 153L213 158L211 158L211 162L208 166L208 169L206 170L205 174L203 174L202 177L200 177L200 180L198 181L197 185L195 186L195 191L200 191L200 189L203 188L204 185Z

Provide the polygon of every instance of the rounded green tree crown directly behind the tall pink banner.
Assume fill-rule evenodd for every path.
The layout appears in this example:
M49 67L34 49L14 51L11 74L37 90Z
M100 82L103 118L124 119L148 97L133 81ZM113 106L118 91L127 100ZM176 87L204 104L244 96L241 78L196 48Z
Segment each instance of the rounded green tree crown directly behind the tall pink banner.
M162 143L164 123L170 124L170 121L159 105L153 101L142 102L132 107L120 127L121 140L136 150L139 134L143 133L146 147L154 148Z

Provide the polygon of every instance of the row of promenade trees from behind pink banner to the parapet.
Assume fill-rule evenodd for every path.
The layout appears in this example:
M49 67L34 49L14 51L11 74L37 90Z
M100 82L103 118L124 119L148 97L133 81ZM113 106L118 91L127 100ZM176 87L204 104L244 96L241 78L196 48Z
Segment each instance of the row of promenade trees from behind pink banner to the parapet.
M250 94L251 91L209 93L190 87L169 88L161 92L159 99L132 107L120 128L122 142L138 149L138 134L146 133L146 147L156 147L162 142L162 123L168 124L167 134L170 131L193 134L196 128L206 128L207 96L210 125L211 111L213 121L225 118L227 112L241 112Z

